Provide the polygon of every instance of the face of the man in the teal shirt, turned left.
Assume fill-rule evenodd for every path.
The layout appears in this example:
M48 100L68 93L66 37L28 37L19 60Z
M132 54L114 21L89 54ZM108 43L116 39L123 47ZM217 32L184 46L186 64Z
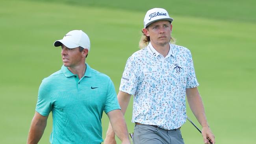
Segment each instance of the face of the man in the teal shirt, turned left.
M61 44L61 57L63 65L67 67L76 67L81 63L84 63L83 60L83 51L79 51L77 48L67 48L65 45Z

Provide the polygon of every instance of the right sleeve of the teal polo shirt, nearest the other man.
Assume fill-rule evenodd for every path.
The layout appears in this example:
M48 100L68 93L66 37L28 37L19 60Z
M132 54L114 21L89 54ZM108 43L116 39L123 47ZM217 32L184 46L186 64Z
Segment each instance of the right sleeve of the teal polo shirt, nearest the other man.
M115 87L111 79L108 82L108 92L107 98L104 106L104 112L108 113L109 111L113 111L115 109L121 109L117 100L117 94L115 92Z

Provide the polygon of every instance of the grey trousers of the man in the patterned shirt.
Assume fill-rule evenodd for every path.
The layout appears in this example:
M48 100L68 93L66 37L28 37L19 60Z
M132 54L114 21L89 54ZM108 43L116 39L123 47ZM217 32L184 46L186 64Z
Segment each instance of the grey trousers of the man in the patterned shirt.
M184 144L180 129L165 130L157 126L135 125L134 144Z

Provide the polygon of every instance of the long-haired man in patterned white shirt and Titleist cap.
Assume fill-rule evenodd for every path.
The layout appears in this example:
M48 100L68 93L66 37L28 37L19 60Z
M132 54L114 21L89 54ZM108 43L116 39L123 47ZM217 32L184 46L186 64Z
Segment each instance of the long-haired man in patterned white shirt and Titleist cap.
M189 106L202 126L204 143L215 137L206 120L198 92L199 85L190 51L171 44L173 18L165 9L147 11L141 50L126 62L118 100L124 114L134 95L132 122L134 144L184 144L180 127L186 122L186 95ZM109 125L104 144L115 144Z

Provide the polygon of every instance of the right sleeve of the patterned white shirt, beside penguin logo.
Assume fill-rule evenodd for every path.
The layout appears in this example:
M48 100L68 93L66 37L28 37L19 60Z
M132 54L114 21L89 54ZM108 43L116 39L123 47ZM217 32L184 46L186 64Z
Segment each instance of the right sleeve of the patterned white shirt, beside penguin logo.
M187 75L186 88L197 87L199 85L199 83L198 83L197 78L196 78L195 68L194 68L194 65L193 65L192 55L191 55L190 51L188 51L187 63L188 63L188 75Z

